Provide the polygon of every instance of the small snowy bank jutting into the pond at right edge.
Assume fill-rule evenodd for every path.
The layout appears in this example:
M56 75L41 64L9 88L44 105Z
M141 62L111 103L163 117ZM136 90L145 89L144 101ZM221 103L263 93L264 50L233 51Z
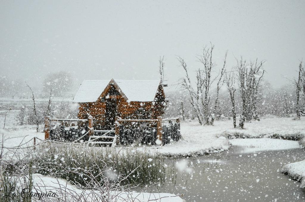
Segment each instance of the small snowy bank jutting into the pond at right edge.
M305 191L305 161L298 161L283 166L282 173L301 182L300 187Z

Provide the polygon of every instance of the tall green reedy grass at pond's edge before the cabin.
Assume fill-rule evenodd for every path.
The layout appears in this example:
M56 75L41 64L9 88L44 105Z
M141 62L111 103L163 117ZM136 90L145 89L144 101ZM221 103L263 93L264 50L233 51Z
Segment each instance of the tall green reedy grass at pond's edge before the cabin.
M146 186L164 183L163 157L133 149L56 146L33 153L36 172L68 179L94 189L105 180L120 185Z

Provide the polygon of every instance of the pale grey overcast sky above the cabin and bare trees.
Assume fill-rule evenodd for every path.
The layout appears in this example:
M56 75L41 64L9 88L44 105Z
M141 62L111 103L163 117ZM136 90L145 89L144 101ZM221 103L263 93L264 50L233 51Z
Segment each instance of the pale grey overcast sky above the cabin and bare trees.
M160 55L169 84L190 70L210 41L221 68L234 57L266 60L278 87L305 57L305 1L2 1L0 76L38 84L66 70L83 79L158 79Z

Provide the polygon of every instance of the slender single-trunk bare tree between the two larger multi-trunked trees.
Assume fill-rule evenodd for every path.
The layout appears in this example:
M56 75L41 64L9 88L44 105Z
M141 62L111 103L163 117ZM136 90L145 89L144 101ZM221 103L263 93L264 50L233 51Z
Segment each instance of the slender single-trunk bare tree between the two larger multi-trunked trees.
M227 88L230 94L230 99L232 104L233 125L234 128L236 128L236 110L235 110L235 99L234 99L236 88L235 88L235 74L233 71L227 72L225 74L225 81L227 84Z

